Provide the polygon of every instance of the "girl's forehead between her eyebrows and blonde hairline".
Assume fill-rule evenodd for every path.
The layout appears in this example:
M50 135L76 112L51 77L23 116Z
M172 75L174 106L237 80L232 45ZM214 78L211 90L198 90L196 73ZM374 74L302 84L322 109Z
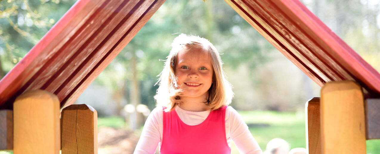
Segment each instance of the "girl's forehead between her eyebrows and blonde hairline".
M189 50L184 47L178 51L177 55L177 64L180 63L200 63L200 64L210 64L211 65L211 56L208 51L201 49Z

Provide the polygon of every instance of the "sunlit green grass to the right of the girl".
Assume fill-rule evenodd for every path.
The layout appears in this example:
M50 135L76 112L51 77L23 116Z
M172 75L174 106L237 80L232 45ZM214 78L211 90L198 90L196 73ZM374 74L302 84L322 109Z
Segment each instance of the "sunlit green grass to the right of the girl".
M286 140L291 148L306 148L305 114L274 111L240 111L249 130L263 151L273 138ZM263 126L267 124L266 126ZM367 153L380 154L380 140L367 140ZM231 147L232 154L239 153Z

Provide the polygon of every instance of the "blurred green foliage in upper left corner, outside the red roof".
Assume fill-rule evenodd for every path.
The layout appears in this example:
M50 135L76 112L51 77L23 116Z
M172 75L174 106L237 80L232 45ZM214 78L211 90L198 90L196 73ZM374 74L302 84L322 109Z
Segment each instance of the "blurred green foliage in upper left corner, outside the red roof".
M75 0L0 1L0 78L9 72Z

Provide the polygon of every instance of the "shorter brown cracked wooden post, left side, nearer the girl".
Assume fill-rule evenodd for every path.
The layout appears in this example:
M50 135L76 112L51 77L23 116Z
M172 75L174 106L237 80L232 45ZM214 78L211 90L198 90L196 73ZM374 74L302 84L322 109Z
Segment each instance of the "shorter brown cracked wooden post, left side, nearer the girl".
M98 114L86 104L62 110L62 154L98 153Z

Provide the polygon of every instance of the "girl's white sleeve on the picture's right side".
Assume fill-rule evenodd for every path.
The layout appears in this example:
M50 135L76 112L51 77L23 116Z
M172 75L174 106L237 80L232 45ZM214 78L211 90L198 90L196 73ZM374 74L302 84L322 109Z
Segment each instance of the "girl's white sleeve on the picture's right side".
M230 120L230 137L239 152L242 154L262 154L263 151L261 151L260 146L253 138L247 124L245 124L239 113L231 106L228 106L226 116Z

